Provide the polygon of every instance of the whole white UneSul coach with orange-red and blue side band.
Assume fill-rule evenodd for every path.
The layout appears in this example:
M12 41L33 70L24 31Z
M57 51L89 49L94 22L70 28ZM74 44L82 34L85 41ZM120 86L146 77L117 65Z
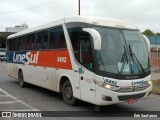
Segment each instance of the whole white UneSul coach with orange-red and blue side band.
M151 94L149 42L135 25L69 17L7 38L7 72L62 93L64 102L133 102Z

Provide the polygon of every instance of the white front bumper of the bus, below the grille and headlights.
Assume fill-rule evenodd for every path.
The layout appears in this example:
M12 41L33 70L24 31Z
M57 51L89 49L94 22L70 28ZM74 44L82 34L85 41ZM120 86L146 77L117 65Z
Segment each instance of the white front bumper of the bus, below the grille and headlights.
M143 91L136 91L136 92L125 92L119 93L107 90L102 87L97 86L96 88L96 105L104 106L104 105L111 105L117 104L122 102L127 102L131 99L146 99L151 95L152 86L148 87Z

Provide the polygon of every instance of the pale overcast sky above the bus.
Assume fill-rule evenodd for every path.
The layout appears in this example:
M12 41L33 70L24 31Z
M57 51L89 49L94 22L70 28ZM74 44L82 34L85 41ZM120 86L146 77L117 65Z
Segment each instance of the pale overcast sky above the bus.
M78 15L78 0L0 0L0 31L23 23L30 28ZM142 32L160 32L160 0L81 0L81 16L119 19Z

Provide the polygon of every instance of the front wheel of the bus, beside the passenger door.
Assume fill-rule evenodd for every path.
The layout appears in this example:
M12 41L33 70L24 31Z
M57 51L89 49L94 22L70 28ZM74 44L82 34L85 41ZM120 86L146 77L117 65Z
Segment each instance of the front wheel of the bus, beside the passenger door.
M65 81L62 88L63 100L68 105L75 105L76 98L73 97L73 90L69 80Z

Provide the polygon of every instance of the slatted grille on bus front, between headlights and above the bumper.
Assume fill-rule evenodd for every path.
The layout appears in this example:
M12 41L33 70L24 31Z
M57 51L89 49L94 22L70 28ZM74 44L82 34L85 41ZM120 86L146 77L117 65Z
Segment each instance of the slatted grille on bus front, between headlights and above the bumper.
M149 87L149 85L147 85L147 86L120 87L119 89L117 89L117 92L120 92L120 93L136 92L136 91L145 90L145 89L147 89L148 87Z

